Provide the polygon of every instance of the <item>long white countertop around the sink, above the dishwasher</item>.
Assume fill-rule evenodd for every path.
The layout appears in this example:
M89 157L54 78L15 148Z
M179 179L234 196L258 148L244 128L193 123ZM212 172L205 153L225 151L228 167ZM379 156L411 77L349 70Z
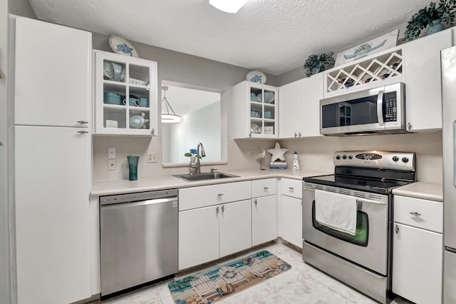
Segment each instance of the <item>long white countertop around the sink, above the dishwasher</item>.
M218 178L206 181L184 181L175 176L155 176L151 178L138 178L138 181L115 180L95 181L92 185L92 196L109 196L113 194L135 193L142 191L155 191L174 188L188 188L196 186L215 185L217 183L234 183L237 181L251 181L261 178L293 178L301 180L308 176L321 176L332 172L321 171L291 171L286 170L239 170L223 171L235 176L234 178Z

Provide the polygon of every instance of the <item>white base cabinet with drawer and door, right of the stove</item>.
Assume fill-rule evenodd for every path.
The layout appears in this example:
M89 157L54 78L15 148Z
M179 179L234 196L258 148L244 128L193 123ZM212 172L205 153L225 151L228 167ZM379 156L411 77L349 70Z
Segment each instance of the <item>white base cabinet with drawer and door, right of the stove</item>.
M393 230L393 293L442 303L442 203L394 196Z

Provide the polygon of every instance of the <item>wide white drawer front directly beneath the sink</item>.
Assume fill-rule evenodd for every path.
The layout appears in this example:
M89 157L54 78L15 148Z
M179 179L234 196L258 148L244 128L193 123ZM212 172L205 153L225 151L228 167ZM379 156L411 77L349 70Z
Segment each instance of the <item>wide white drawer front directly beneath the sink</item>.
M179 189L179 211L250 199L251 191L250 181Z

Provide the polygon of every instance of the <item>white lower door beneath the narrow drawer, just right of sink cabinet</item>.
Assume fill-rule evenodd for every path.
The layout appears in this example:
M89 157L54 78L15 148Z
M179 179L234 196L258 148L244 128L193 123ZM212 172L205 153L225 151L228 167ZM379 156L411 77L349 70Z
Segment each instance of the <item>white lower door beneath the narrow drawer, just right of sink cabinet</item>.
M277 196L252 198L252 245L277 238Z

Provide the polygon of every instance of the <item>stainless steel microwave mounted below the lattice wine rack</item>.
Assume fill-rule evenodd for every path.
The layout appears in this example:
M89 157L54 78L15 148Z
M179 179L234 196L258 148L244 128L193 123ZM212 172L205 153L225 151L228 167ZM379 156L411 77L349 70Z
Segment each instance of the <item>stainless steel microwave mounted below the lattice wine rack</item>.
M405 132L404 83L320 101L320 133L323 135Z

